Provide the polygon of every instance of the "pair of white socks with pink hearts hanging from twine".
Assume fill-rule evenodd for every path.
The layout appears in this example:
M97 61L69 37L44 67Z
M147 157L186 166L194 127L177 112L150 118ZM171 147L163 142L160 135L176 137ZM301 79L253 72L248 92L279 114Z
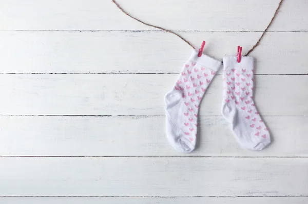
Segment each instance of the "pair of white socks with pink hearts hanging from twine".
M221 62L194 51L185 63L174 89L165 96L166 133L171 146L189 153L195 149L198 112L202 97ZM253 99L253 57L223 58L222 115L230 123L239 144L262 150L271 138Z

